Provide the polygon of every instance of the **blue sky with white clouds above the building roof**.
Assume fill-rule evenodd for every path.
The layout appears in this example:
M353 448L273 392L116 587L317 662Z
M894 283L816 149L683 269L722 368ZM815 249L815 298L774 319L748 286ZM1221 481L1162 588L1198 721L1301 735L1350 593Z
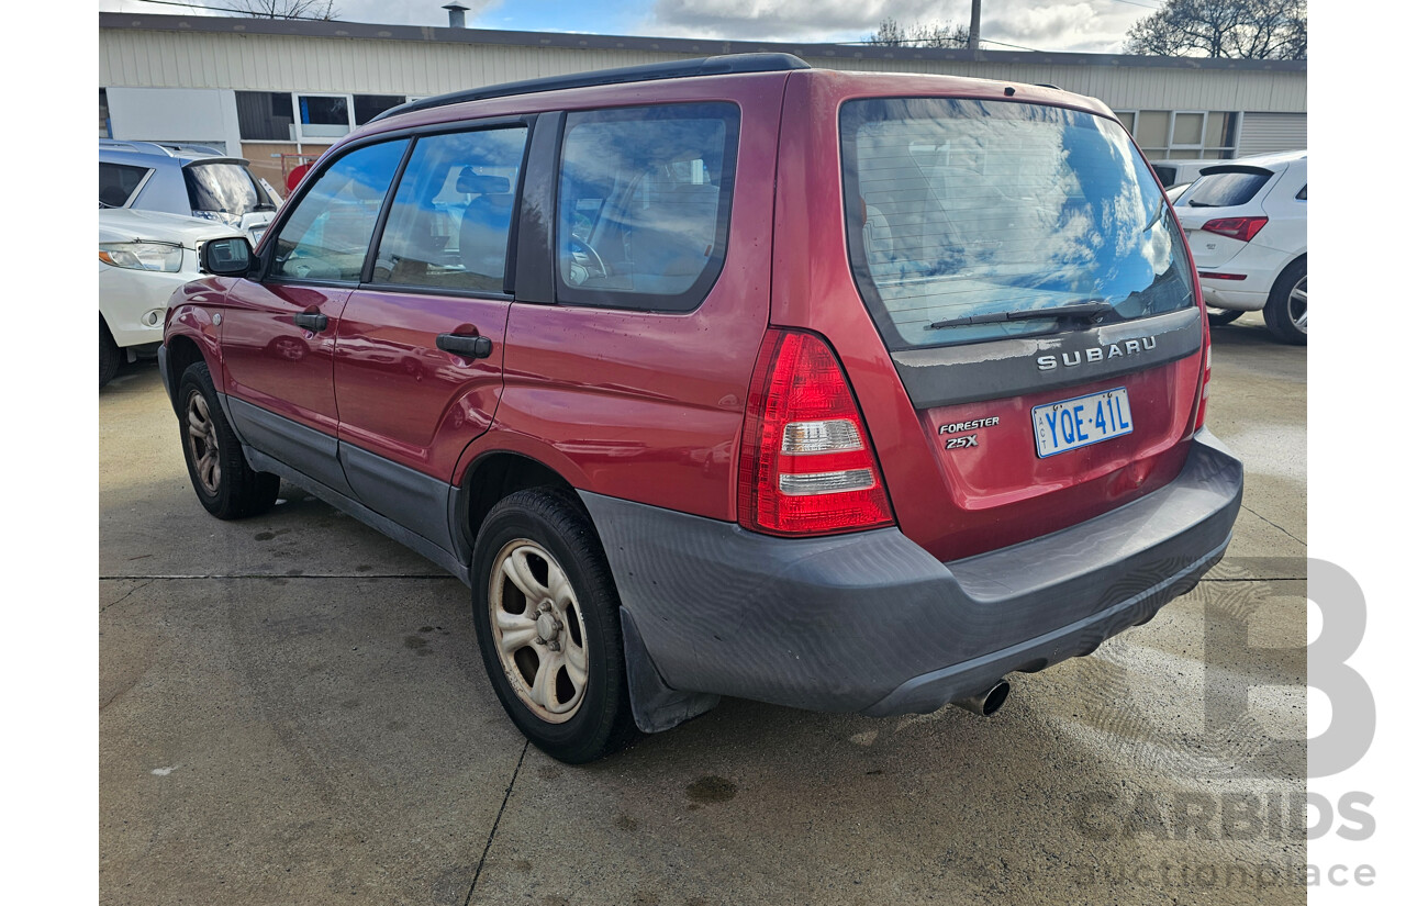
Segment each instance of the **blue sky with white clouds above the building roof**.
M447 0L335 0L353 22L446 25ZM460 0L461 3L464 0ZM1164 0L984 0L984 48L1118 53L1128 29ZM148 0L100 0L108 11L180 14L228 0L191 0L186 8ZM884 18L901 25L960 24L970 0L478 0L470 28L567 31L606 35L721 38L733 41L862 41Z

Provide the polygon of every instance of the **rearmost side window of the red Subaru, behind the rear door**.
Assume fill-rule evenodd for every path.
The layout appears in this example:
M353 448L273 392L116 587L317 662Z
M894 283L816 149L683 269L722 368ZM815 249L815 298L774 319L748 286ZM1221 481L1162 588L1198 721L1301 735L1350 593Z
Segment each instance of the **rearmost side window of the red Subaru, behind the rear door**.
M733 104L567 117L557 298L682 312L723 270L737 167Z

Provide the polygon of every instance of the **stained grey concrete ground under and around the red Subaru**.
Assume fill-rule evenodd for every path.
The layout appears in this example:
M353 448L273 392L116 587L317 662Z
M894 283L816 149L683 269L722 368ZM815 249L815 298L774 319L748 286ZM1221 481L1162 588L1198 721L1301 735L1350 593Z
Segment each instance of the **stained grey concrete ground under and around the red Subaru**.
M1291 903L1306 355L1215 330L1227 559L1007 707L724 701L588 767L524 744L467 593L284 485L200 507L155 365L101 392L101 902ZM1299 740L1299 742L1294 742Z

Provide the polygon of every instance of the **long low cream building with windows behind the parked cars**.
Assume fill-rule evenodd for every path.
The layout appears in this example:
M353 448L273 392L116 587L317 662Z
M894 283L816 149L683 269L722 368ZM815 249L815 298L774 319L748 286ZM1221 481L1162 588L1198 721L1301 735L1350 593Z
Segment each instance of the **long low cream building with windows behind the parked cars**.
M405 100L589 69L786 52L811 66L1056 84L1152 160L1308 146L1308 63L631 38L205 15L98 17L98 133L214 145L281 171Z

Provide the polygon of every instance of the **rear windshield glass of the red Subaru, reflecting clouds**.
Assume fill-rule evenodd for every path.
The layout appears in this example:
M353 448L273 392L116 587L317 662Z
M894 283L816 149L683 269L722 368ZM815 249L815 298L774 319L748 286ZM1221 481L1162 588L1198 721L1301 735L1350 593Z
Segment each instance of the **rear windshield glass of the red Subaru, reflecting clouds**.
M880 98L839 112L849 258L891 350L1052 333L1194 305L1157 177L1092 114L955 98ZM943 323L943 326L936 326Z

